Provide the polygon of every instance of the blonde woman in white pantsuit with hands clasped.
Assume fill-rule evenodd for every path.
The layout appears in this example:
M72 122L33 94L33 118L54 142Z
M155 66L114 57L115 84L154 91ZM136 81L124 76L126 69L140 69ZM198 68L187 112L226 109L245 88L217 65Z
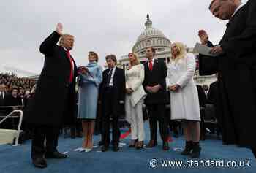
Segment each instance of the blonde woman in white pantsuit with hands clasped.
M143 100L146 93L143 89L144 66L140 64L138 56L129 53L129 69L125 71L126 76L126 120L131 125L131 141L129 147L140 149L143 147L145 138L143 125Z

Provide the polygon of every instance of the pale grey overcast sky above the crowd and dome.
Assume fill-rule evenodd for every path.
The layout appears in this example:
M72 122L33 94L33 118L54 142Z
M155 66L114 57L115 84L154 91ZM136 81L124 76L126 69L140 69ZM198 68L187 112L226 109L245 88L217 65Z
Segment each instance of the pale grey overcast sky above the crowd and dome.
M197 31L205 29L217 43L225 23L208 11L211 0L8 0L1 1L0 72L12 69L39 74L44 57L39 45L61 22L64 32L75 36L72 55L78 66L88 63L90 50L119 58L132 50L145 29L149 13L153 27L161 30L171 42L193 47ZM244 3L246 0L244 0ZM18 72L19 76L30 75Z

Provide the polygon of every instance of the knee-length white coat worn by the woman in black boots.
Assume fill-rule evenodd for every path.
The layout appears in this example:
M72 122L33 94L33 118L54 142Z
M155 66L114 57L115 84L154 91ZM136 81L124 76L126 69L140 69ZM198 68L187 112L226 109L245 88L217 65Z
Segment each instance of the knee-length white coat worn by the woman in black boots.
M200 121L200 107L197 87L193 80L195 74L195 56L171 61L167 65L166 85L178 84L178 91L170 91L170 117L172 120L197 120Z

